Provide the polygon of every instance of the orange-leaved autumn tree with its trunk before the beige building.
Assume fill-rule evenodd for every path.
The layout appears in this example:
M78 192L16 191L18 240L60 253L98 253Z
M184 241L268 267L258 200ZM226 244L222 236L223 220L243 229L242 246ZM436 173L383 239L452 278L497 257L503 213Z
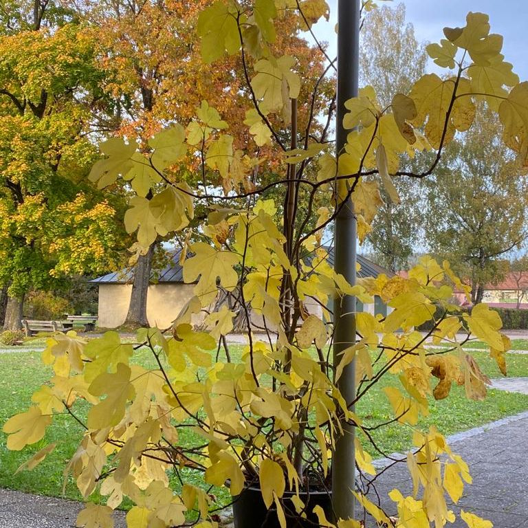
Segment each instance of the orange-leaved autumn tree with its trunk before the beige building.
M261 57L248 57L246 65L241 63L238 56L223 57L214 68L202 63L201 48L208 46L208 51L212 51L215 44L201 43L197 34L198 15L212 3L211 0L192 3L181 0L144 1L137 4L103 1L89 5L81 14L93 25L92 31L99 43L100 63L107 72L105 91L115 100L117 135L135 137L146 143L164 124L177 122L187 126L195 116L196 109L202 107L202 101L207 100L215 111L232 117L232 143L218 144L218 155L235 152L239 157L239 165L243 168L248 165L252 154L260 152L261 155L266 155L272 148L270 129L260 123L259 115L254 109L248 113L250 101L248 88L245 86L244 67L250 67ZM299 87L299 100L302 101L297 113L299 130L307 129L309 123L314 129L318 129L316 116L334 98L334 88L328 78L321 78L325 69L322 64L324 54L318 48L309 46L296 34L294 29L299 27L306 30L305 21L289 14L278 20L274 29L277 39L272 48L295 56L298 71L307 80L302 88ZM327 69L331 70L331 67L333 65L329 65ZM267 72L263 72L265 74ZM309 100L309 93L316 83L320 87L312 102ZM206 122L206 115L206 109L202 109L199 114L201 122ZM327 125L327 130L328 128ZM200 162L205 159L208 137L196 126L188 133L192 137L191 141L201 144L202 150L199 157L188 160L187 166L177 169L178 177L183 171L189 184L205 186L204 172L215 168L211 161L200 167ZM282 148L290 143L288 134L288 131L280 131L276 135L277 138L282 136ZM245 148L244 155L241 155L241 146ZM273 148L277 146L274 145ZM148 177L145 175L147 181ZM159 182L159 177L155 174L151 173L150 177ZM276 178L273 168L263 174L258 167L254 167L252 178L245 185L252 185L256 180L263 181L266 177L270 180ZM136 185L135 182L136 180L132 181L133 186ZM235 185L239 183L242 181ZM217 180L214 184L221 186L221 181ZM223 189L224 192L228 190ZM148 282L154 248L161 239L162 237L158 237L150 248L135 254L126 325L148 324Z

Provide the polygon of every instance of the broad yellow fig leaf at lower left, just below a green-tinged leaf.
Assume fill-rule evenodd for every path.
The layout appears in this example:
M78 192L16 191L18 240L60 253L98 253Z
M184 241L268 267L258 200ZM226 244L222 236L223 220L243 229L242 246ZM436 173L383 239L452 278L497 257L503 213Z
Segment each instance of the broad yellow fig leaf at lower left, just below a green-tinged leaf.
M124 416L126 401L135 396L134 386L130 382L131 370L118 363L115 373L98 375L89 386L90 394L107 397L88 412L88 427L102 429L116 426Z

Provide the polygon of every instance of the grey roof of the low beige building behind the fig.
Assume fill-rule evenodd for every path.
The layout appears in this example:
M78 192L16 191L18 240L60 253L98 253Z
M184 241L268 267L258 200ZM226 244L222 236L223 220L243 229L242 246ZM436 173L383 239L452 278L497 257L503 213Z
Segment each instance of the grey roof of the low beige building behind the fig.
M184 274L183 268L179 265L179 251L173 256L173 262L164 267L161 272L153 272L151 274L151 282L153 283L183 283ZM328 263L333 266L333 248L328 250ZM358 277L377 277L381 274L386 274L388 277L394 276L393 272L386 270L373 261L366 259L364 256L358 255L358 263L361 265L361 270L358 272ZM102 277L94 278L90 281L93 284L127 284L132 282L132 271L130 268L125 268L120 272L113 272Z

